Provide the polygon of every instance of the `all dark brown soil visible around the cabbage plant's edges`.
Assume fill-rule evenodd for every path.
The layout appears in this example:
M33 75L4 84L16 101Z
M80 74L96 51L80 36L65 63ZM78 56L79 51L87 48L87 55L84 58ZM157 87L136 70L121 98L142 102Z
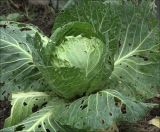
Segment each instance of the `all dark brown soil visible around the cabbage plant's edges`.
M8 15L10 13L22 13L24 16L18 20L19 22L29 23L38 26L44 34L51 35L51 30L54 24L56 13L53 8L45 8L44 6L28 5L24 0L0 0L0 16ZM26 10L27 9L27 10ZM46 10L47 9L47 10ZM31 17L29 17L31 16ZM155 97L146 102L160 104L160 98ZM0 129L3 127L4 120L10 114L11 104L9 101L0 101ZM134 124L122 123L119 126L120 132L159 132L160 130L149 125L148 121L155 116L160 116L160 108L154 108L150 113L141 121Z

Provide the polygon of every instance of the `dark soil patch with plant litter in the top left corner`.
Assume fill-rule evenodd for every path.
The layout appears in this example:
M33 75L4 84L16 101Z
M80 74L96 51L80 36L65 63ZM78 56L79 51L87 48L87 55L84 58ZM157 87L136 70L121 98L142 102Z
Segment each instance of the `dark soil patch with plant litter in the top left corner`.
M12 1L12 2L10 2ZM20 13L19 22L38 26L45 35L50 36L56 11L51 6L31 5L27 0L0 0L0 16Z

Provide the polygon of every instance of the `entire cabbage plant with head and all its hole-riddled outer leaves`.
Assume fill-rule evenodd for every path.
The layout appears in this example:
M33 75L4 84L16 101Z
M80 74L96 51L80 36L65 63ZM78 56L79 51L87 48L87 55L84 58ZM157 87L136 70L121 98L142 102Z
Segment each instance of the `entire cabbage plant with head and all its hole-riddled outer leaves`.
M160 33L151 1L75 1L53 34L0 22L1 131L113 131L156 106Z

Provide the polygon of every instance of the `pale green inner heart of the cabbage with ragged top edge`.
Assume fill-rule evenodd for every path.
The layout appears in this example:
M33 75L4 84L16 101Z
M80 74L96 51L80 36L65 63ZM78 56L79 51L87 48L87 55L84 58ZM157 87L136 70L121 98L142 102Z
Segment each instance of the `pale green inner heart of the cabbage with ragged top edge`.
M55 67L76 67L86 72L86 77L99 63L104 44L97 38L67 36L66 41L53 52L52 65Z

